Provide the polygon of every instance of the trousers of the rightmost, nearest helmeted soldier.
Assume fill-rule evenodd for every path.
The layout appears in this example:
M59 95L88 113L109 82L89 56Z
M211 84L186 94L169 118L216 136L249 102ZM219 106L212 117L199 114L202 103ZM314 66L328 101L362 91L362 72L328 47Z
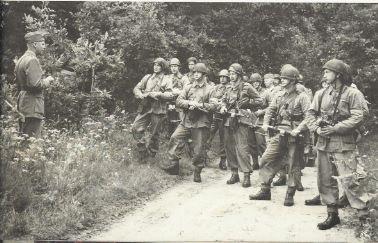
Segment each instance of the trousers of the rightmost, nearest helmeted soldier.
M357 169L355 151L325 152L317 151L318 156L318 189L323 203L328 207L328 212L337 211L335 206L339 198L337 180L333 176L340 176L339 182L344 194L347 196L351 207L364 209L366 202L358 193L356 177Z

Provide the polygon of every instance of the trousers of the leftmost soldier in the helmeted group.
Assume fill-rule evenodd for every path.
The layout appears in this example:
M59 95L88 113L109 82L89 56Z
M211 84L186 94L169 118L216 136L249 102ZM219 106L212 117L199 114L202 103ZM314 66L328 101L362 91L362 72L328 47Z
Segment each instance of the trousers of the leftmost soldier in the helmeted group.
M135 118L132 132L137 141L139 153L146 153L147 151L157 153L159 150L159 133L164 116L164 114L144 113L138 114ZM145 131L149 125L151 125L151 138L147 143Z

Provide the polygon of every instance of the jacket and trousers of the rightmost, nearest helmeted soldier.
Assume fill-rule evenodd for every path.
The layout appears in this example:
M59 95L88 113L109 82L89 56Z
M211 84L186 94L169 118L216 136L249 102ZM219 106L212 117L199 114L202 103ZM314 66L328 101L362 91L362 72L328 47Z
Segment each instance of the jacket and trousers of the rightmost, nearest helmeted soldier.
M319 119L330 119L333 116L339 91L333 86L315 93L314 100L308 111L307 124L311 131L319 128ZM321 102L320 102L321 99ZM320 113L319 111L320 105ZM357 89L344 86L336 113L336 133L328 137L318 136L316 149L318 158L318 189L322 201L327 205L328 212L337 212L339 191L336 173L340 176L341 187L352 207L363 209L366 201L354 191L357 168L355 160L356 138L355 129L364 121L367 113L363 94ZM336 172L337 171L337 172Z

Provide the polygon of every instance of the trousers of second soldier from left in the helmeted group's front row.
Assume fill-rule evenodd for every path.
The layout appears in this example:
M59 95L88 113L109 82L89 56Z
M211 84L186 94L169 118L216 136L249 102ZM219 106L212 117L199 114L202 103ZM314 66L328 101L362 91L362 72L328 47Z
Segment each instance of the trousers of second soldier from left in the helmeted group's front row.
M178 125L177 129L173 132L168 143L168 159L170 161L169 167L174 166L180 160L180 153L182 144L192 139L193 144L193 165L203 168L206 163L206 142L209 138L209 128L187 128L184 125Z

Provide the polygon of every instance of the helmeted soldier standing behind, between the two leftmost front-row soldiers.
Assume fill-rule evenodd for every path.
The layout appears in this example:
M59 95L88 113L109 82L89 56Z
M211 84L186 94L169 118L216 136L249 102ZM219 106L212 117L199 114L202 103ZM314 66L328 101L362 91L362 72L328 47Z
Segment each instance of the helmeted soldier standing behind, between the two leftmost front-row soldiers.
M168 102L168 110L167 110L167 119L168 119L168 135L171 137L172 133L175 131L178 123L182 118L182 111L176 109L175 103L176 98L180 94L183 89L183 75L180 73L180 60L177 58L172 58L169 66L171 69L171 74L166 75L165 78L167 79L166 82L170 83L172 87L172 94L173 98Z

